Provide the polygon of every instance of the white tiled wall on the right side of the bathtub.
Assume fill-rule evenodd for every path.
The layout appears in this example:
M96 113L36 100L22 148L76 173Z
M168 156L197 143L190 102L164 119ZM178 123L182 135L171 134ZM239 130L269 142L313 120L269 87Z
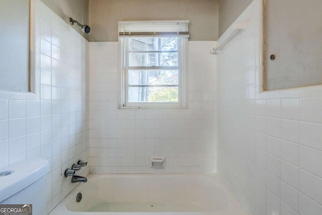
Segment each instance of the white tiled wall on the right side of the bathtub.
M261 92L261 2L218 54L218 173L250 214L322 214L322 86Z

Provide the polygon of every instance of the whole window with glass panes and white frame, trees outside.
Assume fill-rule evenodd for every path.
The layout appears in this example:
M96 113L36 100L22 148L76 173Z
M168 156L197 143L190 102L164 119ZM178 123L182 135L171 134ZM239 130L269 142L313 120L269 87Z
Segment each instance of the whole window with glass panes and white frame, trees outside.
M142 23L135 24L136 28L138 25L142 28ZM144 32L126 33L124 29L120 32L120 108L185 107L188 37L177 31L165 32L167 29L164 23L163 32L153 31L157 30L157 24L148 24L151 26L150 31L144 26Z

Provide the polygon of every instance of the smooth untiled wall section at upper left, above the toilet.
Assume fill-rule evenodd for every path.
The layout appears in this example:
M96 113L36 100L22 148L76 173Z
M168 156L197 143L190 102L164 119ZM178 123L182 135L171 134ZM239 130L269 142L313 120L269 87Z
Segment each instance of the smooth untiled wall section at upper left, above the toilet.
M30 1L2 0L0 90L29 92Z

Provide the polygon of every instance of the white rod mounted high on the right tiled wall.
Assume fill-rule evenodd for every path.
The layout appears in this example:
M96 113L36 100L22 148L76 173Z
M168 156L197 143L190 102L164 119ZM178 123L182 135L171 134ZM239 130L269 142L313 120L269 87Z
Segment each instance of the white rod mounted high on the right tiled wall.
M239 31L246 30L246 22L234 23L231 25L223 35L217 40L217 45L212 49L214 53L218 53L220 48L222 48L231 38L233 38Z

